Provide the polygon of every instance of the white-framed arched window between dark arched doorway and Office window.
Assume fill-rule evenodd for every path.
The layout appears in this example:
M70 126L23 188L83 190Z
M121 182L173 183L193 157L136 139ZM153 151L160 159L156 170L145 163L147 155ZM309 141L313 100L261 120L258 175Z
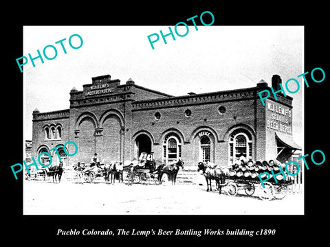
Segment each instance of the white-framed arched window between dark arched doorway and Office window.
M176 134L168 134L163 143L163 161L168 164L181 158L181 142Z

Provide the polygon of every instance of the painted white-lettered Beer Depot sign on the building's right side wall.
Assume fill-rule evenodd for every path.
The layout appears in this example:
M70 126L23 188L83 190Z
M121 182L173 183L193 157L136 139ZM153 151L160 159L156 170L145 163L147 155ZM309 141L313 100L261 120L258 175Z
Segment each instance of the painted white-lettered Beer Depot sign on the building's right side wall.
M266 126L286 134L292 134L292 108L267 100Z

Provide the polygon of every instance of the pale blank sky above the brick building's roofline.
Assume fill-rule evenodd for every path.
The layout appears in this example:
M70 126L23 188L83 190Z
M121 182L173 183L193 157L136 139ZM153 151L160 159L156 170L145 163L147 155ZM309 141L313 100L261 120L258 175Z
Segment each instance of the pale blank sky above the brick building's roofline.
M69 108L69 92L73 87L83 90L91 78L111 75L121 84L132 78L135 84L179 96L187 93L209 93L254 87L261 80L272 86L272 75L283 84L296 78L303 70L303 26L188 26L184 37L175 33L175 40L160 37L151 48L147 36L168 26L24 26L23 54L32 58L37 49L43 53L54 45L53 60L34 60L23 67L25 92L23 118L24 138L32 140L32 112L41 113ZM171 27L174 30L174 27ZM174 31L173 31L174 32ZM179 26L179 34L186 27ZM83 38L79 49L72 49L68 40L72 34ZM160 34L159 34L160 36ZM64 54L63 41L67 54ZM80 40L72 38L74 46ZM54 56L47 48L47 56ZM53 52L53 53L52 53ZM17 67L19 70L19 67ZM303 146L303 89L287 95L293 100L293 136ZM289 86L294 91L294 85Z

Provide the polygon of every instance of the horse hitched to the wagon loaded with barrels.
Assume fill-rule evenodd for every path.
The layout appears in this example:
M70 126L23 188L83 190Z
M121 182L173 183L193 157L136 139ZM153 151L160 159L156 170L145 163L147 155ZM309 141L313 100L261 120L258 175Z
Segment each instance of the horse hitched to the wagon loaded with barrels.
M214 167L212 167L210 163L203 163L203 162L199 162L197 166L198 166L197 172L203 171L203 175L205 176L206 179L206 185L207 186L210 185L210 189L208 187L206 191L212 191L211 181L215 180L217 184L217 188L219 188L219 193L221 193L221 184L223 185L225 181L224 179L225 172L223 171L223 169L221 169L218 165L214 165Z

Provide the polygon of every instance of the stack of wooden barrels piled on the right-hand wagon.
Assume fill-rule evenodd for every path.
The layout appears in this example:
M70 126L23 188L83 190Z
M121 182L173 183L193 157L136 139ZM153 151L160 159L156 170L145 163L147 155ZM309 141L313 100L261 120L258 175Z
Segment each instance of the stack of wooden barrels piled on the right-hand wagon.
M270 172L271 169L273 169L274 174L281 172L280 165L281 164L275 165L272 160L269 163L267 161L256 161L255 163L253 161L248 161L245 163L245 161L242 160L240 165L232 165L232 169L229 171L229 176L239 179L259 180L259 174L263 174L263 172L272 174ZM261 178L264 176L267 176L267 174L261 175ZM282 174L278 174L276 175L276 179L283 180L284 176Z

